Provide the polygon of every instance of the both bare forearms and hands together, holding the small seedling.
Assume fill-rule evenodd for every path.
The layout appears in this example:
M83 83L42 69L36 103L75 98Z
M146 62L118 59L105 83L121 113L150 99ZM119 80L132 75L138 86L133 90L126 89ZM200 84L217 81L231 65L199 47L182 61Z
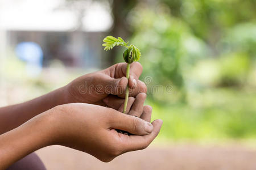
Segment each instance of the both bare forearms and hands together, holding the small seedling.
M142 66L131 64L129 80L126 66L118 63L80 76L44 96L0 108L0 169L49 145L75 148L103 162L146 148L159 133L162 121L149 123L152 108L143 106L147 89L138 80ZM122 114L127 83L131 97L126 114ZM85 91L89 87L91 90Z

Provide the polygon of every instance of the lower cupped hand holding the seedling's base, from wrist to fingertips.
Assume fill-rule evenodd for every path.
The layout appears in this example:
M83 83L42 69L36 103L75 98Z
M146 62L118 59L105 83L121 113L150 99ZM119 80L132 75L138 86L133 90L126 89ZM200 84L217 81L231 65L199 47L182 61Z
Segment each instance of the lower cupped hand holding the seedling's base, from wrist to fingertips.
M138 111L138 107L141 105L133 105L131 112ZM87 152L103 162L127 151L146 148L162 126L162 120L150 124L141 118L98 105L74 103L53 109L53 120L56 120L53 144ZM140 114L150 120L151 109L144 109ZM121 134L115 129L135 135Z

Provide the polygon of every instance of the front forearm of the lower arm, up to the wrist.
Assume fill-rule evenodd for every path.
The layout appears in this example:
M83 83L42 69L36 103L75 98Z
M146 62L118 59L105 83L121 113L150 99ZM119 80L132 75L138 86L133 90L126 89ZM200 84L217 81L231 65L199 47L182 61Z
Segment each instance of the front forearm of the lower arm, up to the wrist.
M0 169L6 169L17 160L52 144L54 121L42 114L23 125L0 135Z

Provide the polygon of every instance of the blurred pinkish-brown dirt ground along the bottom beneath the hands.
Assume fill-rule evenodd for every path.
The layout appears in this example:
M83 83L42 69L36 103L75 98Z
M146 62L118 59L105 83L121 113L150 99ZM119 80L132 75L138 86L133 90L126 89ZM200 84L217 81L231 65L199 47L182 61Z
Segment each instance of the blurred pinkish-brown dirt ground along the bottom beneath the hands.
M129 152L110 163L62 146L36 151L48 170L76 169L256 169L256 150L242 146L151 146Z

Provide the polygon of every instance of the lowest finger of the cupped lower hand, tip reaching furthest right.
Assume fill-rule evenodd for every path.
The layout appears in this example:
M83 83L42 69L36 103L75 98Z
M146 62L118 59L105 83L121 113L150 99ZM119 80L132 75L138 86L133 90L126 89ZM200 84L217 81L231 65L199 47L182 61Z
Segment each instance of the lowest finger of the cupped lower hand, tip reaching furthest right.
M154 130L148 135L121 135L120 137L122 137L123 140L120 140L121 143L119 145L122 146L123 152L142 150L146 148L159 134L162 124L162 120L153 121L152 125L154 126Z

